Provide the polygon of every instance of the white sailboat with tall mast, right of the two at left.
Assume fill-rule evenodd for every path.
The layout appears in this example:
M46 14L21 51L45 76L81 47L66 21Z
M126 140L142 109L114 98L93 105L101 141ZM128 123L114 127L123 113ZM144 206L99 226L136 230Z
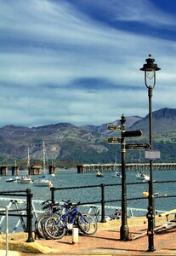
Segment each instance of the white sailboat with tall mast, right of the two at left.
M46 163L45 163L45 144L43 141L43 176L38 177L38 180L34 182L37 187L49 187L51 186L51 181L48 179L46 172Z

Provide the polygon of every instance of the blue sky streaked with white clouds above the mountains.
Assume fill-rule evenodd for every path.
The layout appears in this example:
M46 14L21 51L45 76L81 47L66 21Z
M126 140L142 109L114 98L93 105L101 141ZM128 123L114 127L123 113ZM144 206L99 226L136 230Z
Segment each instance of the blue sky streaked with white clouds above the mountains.
M175 108L175 0L0 0L0 126L101 125Z

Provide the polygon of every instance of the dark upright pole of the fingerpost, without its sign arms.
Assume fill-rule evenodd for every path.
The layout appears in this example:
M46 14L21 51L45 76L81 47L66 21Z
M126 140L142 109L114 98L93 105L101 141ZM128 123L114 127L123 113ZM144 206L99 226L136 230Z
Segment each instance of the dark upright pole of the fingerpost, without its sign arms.
M122 124L122 132L125 131L125 122L126 119L122 115L121 124ZM121 132L121 134L122 134ZM122 136L122 226L120 230L120 239L121 241L128 241L129 239L129 229L128 229L128 214L127 214L127 184L126 184L126 170L125 170L125 138Z

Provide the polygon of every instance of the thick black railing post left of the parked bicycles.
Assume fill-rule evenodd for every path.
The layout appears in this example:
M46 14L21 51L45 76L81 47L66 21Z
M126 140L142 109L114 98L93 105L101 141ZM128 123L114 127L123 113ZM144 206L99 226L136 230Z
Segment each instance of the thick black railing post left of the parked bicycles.
M32 193L31 189L26 189L27 192L27 232L28 232L28 238L26 242L31 242L34 241L32 237L32 218L33 214L31 212L31 198L32 198Z

